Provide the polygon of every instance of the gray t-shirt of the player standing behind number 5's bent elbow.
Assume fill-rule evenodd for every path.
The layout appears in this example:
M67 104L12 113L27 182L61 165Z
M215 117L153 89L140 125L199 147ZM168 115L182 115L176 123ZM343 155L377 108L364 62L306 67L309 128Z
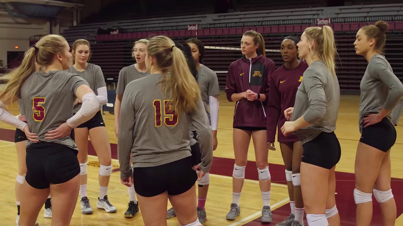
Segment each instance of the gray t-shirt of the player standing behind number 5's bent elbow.
M68 72L73 74L78 74L81 78L84 78L88 82L89 87L94 91L95 95L98 95L98 88L106 86L104 74L102 73L101 67L96 64L87 63L87 68L84 71L79 72L74 68L74 65L70 67ZM81 108L81 103L74 106L73 113Z

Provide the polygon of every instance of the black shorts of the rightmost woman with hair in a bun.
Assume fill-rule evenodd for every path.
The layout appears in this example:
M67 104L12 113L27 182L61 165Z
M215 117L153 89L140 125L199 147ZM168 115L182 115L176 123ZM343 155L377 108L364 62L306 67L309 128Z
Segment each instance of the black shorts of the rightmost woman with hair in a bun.
M359 142L387 152L396 142L396 129L391 121L384 117L380 122L362 128Z

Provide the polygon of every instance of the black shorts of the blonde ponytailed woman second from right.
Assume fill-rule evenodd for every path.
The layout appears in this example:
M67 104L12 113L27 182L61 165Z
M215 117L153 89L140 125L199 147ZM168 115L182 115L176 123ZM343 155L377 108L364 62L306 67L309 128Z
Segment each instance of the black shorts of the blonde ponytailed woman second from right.
M302 162L331 169L341 157L339 140L334 132L321 132L314 140L302 145Z

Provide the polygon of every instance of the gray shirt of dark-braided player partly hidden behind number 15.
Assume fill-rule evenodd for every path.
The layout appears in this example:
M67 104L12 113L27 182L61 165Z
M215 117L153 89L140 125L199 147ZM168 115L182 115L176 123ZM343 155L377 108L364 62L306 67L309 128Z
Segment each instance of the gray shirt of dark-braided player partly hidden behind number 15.
M208 111L209 107L209 96L218 96L220 95L220 86L218 85L218 78L216 72L211 70L210 68L204 66L203 64L200 65L199 70L197 70L198 74L198 84L200 88L200 94L202 96L202 101L204 105L204 109L208 115L209 122L210 121L210 112ZM189 123L189 136L190 136L190 145L196 144L196 140L193 138L194 128Z

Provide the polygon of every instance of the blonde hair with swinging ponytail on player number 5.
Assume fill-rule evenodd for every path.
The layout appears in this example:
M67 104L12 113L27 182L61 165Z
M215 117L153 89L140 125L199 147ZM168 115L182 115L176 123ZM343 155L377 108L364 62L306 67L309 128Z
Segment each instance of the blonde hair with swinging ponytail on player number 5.
M66 39L60 35L46 35L29 48L24 53L21 65L5 75L9 80L6 86L0 90L0 101L13 96L19 97L22 84L35 72L35 62L38 68L52 64L54 55L63 52L65 41Z

